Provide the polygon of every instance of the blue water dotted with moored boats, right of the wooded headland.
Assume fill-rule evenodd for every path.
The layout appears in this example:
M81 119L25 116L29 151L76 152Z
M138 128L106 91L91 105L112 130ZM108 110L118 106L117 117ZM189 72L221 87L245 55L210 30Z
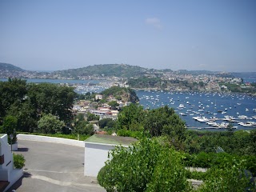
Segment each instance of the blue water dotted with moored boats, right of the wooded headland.
M226 115L238 118L239 115L246 115L248 118L256 115L256 98L246 94L218 94L218 93L198 93L198 92L165 92L165 91L136 91L139 103L145 108L154 109L160 106L173 107L180 115L186 126L190 129L204 129L212 126L205 122L198 122L193 117L206 117L223 119ZM178 106L184 107L178 107ZM222 113L221 113L222 111ZM183 116L183 115L186 116ZM242 119L239 122L256 122L255 119ZM216 121L224 122L222 120ZM251 130L254 127L244 127L232 122L233 126L238 126L237 130ZM213 129L210 129L213 130ZM224 130L224 129L218 129Z

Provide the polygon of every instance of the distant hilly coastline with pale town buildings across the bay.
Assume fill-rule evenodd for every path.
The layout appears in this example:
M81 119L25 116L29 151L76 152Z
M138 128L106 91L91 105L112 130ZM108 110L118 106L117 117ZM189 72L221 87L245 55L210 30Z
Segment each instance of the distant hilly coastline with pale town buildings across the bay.
M83 73L79 69L37 72L6 65L0 67L0 78L100 80L99 84L102 85L106 84L103 82L111 82L111 86L130 86L133 89L256 93L255 83L244 82L242 78L226 72L153 70L125 64L90 66L90 70L87 70L88 67L81 68L81 71L85 71ZM97 67L101 67L100 70ZM107 67L110 69L107 70ZM120 69L122 71L119 71ZM126 70L130 71L129 75L126 74ZM90 85L69 83L69 85L78 88L78 86L94 86L94 83Z

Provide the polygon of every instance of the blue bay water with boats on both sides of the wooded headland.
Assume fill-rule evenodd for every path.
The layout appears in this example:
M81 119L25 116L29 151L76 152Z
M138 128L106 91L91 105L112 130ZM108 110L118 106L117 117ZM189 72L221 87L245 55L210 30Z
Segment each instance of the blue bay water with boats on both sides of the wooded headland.
M7 81L7 79L0 79ZM58 83L76 86L76 92L84 94L88 91L100 93L110 86L110 82L102 80L62 80L62 79L26 79L27 82L34 83ZM94 83L94 86L88 86L88 83ZM82 86L81 86L82 85ZM166 91L146 91L136 90L139 98L139 104L145 109L155 109L160 106L173 107L177 114L186 122L189 129L207 129L207 130L226 130L210 129L206 122L198 122L194 117L205 117L207 119L217 118L214 121L218 124L223 121L225 116L238 118L241 115L246 119L235 119L242 122L256 122L252 117L256 116L256 98L247 94L218 94L218 93L198 93L198 92L166 92ZM182 107L179 107L182 106ZM237 126L237 130L252 130L254 127L241 126L238 122L232 122Z

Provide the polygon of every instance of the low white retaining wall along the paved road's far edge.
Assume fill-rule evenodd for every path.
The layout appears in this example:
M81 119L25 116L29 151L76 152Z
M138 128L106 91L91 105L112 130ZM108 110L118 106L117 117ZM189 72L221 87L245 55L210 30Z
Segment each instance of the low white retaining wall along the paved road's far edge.
M37 141L37 142L55 142L66 144L70 146L80 146L85 147L84 141L78 141L69 138L54 138L54 137L47 137L47 136L40 136L40 135L33 135L33 134L18 134L17 138L20 140L29 140L29 141Z

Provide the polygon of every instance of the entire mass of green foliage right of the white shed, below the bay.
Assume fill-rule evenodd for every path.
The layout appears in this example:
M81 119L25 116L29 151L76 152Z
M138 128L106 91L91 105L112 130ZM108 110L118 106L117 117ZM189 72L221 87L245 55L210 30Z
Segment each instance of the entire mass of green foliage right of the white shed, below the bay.
M188 178L204 181L196 191L256 190L251 179L256 175L256 130L186 130L174 109L143 110L134 104L122 108L115 129L118 135L140 142L110 152L110 160L98 174L107 191L196 190ZM216 153L219 147L225 152ZM208 170L184 170L185 166Z

